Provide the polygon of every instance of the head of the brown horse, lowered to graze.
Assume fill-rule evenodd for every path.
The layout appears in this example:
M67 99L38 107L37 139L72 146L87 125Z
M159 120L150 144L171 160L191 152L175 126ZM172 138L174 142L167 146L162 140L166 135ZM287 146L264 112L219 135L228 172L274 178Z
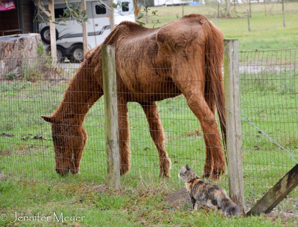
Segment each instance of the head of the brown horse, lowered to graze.
M88 137L86 130L71 120L64 122L55 117L41 117L52 124L56 173L63 176L70 170L76 174L80 170L80 161Z

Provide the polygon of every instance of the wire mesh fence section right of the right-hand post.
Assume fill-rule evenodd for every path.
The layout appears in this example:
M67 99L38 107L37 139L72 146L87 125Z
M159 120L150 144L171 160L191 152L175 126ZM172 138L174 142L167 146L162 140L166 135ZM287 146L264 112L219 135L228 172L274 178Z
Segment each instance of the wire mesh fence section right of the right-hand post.
M241 110L294 155L298 152L297 54L297 49L239 53ZM253 205L297 162L245 121L242 137L246 203ZM297 212L297 192L293 190L279 208Z

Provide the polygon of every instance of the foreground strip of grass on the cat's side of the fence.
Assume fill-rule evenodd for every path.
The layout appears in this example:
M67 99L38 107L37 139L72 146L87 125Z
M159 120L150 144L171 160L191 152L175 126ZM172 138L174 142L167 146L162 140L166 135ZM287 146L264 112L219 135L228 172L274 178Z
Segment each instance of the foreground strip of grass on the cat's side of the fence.
M164 202L170 185L160 182L143 187L140 183L123 182L120 192L107 190L103 185L68 181L37 181L9 178L0 181L0 213L7 215L0 226L296 226L293 218L240 217L228 218L220 212L199 208L192 212L190 205L179 209ZM16 221L17 217L50 217L39 221ZM63 213L64 222L58 219ZM69 217L65 221L65 217ZM72 221L70 221L70 217ZM74 217L77 218L74 223ZM78 218L80 217L80 218ZM83 220L82 220L83 217ZM21 219L20 219L21 220ZM71 225L73 223L73 225Z

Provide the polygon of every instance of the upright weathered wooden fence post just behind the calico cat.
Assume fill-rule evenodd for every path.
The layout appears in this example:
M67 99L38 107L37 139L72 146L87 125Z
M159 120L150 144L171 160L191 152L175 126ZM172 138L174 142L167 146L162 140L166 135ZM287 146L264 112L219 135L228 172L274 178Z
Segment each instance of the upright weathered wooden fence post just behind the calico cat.
M244 213L238 40L224 40L224 88L229 192Z

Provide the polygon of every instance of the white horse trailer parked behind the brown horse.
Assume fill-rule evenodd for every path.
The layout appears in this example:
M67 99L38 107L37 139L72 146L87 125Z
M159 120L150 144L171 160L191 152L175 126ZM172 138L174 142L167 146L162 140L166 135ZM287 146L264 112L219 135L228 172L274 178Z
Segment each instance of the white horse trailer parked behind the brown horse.
M45 9L48 9L48 1L42 0ZM127 3L126 1L121 1ZM73 4L77 1L70 0L70 4ZM66 4L63 0L55 0L55 21L60 18L59 15L63 15L63 9L66 9ZM79 2L78 2L79 3ZM114 3L117 4L117 0L114 0ZM109 15L111 13L108 8L108 1L94 1L86 0L87 16L90 23L87 23L87 32L88 32L88 48L94 48L100 43L103 42L105 37L107 37L110 30L110 20ZM44 18L47 18L44 13L42 13ZM38 18L41 20L41 18ZM83 29L81 24L77 21L65 19L66 22L62 20L60 24L56 24L56 44L57 44L57 57L61 60L64 60L66 57L73 62L80 62L83 60ZM119 24L122 21L134 21L134 7L133 1L128 1L128 4L123 4L122 7L114 11L114 23L115 25ZM49 23L48 23L49 25ZM44 42L47 51L50 51L50 30L49 26L46 23L39 23L39 30L41 34L41 39Z

